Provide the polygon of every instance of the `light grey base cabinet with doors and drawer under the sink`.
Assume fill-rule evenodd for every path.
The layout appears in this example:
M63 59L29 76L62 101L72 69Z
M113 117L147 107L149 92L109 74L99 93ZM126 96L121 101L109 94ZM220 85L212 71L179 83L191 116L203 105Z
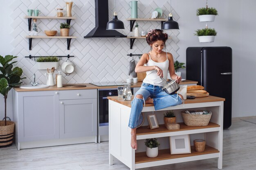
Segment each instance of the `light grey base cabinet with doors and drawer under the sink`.
M97 143L97 89L13 92L18 150Z

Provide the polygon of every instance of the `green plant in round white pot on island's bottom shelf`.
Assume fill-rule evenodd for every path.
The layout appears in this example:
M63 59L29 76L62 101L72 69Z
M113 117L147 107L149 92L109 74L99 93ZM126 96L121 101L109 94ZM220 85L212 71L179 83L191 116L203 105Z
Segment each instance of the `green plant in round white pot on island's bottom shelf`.
M147 157L154 158L158 155L158 146L160 145L157 142L157 138L146 139L145 145L147 146L146 155Z

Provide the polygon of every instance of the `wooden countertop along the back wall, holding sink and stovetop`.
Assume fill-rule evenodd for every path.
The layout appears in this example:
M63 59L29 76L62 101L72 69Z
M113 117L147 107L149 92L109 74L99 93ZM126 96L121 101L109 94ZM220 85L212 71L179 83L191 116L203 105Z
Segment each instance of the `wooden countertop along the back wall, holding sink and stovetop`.
M180 82L180 85L186 85L186 84L197 84L197 81L190 81L190 80L184 80ZM133 83L131 87L141 87L142 81L138 83ZM117 86L96 86L92 85L89 83L82 83L82 84L77 84L77 85L86 85L86 87L61 87L58 88L56 85L55 86L50 86L44 89L22 89L20 87L15 87L14 89L16 92L35 92L35 91L53 91L53 90L80 90L80 89L117 89Z

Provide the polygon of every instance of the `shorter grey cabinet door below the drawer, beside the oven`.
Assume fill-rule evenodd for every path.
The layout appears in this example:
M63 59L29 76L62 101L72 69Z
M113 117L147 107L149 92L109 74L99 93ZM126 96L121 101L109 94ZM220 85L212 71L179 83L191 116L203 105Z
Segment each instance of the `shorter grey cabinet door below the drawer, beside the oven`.
M97 98L59 102L60 138L97 136Z

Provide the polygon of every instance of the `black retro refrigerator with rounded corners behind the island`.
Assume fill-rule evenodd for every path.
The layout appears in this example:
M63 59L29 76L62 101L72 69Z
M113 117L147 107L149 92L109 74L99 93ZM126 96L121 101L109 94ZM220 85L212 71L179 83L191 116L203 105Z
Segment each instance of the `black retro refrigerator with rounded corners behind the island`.
M232 49L230 47L188 47L186 49L186 79L211 96L225 98L223 128L231 126L232 116Z

